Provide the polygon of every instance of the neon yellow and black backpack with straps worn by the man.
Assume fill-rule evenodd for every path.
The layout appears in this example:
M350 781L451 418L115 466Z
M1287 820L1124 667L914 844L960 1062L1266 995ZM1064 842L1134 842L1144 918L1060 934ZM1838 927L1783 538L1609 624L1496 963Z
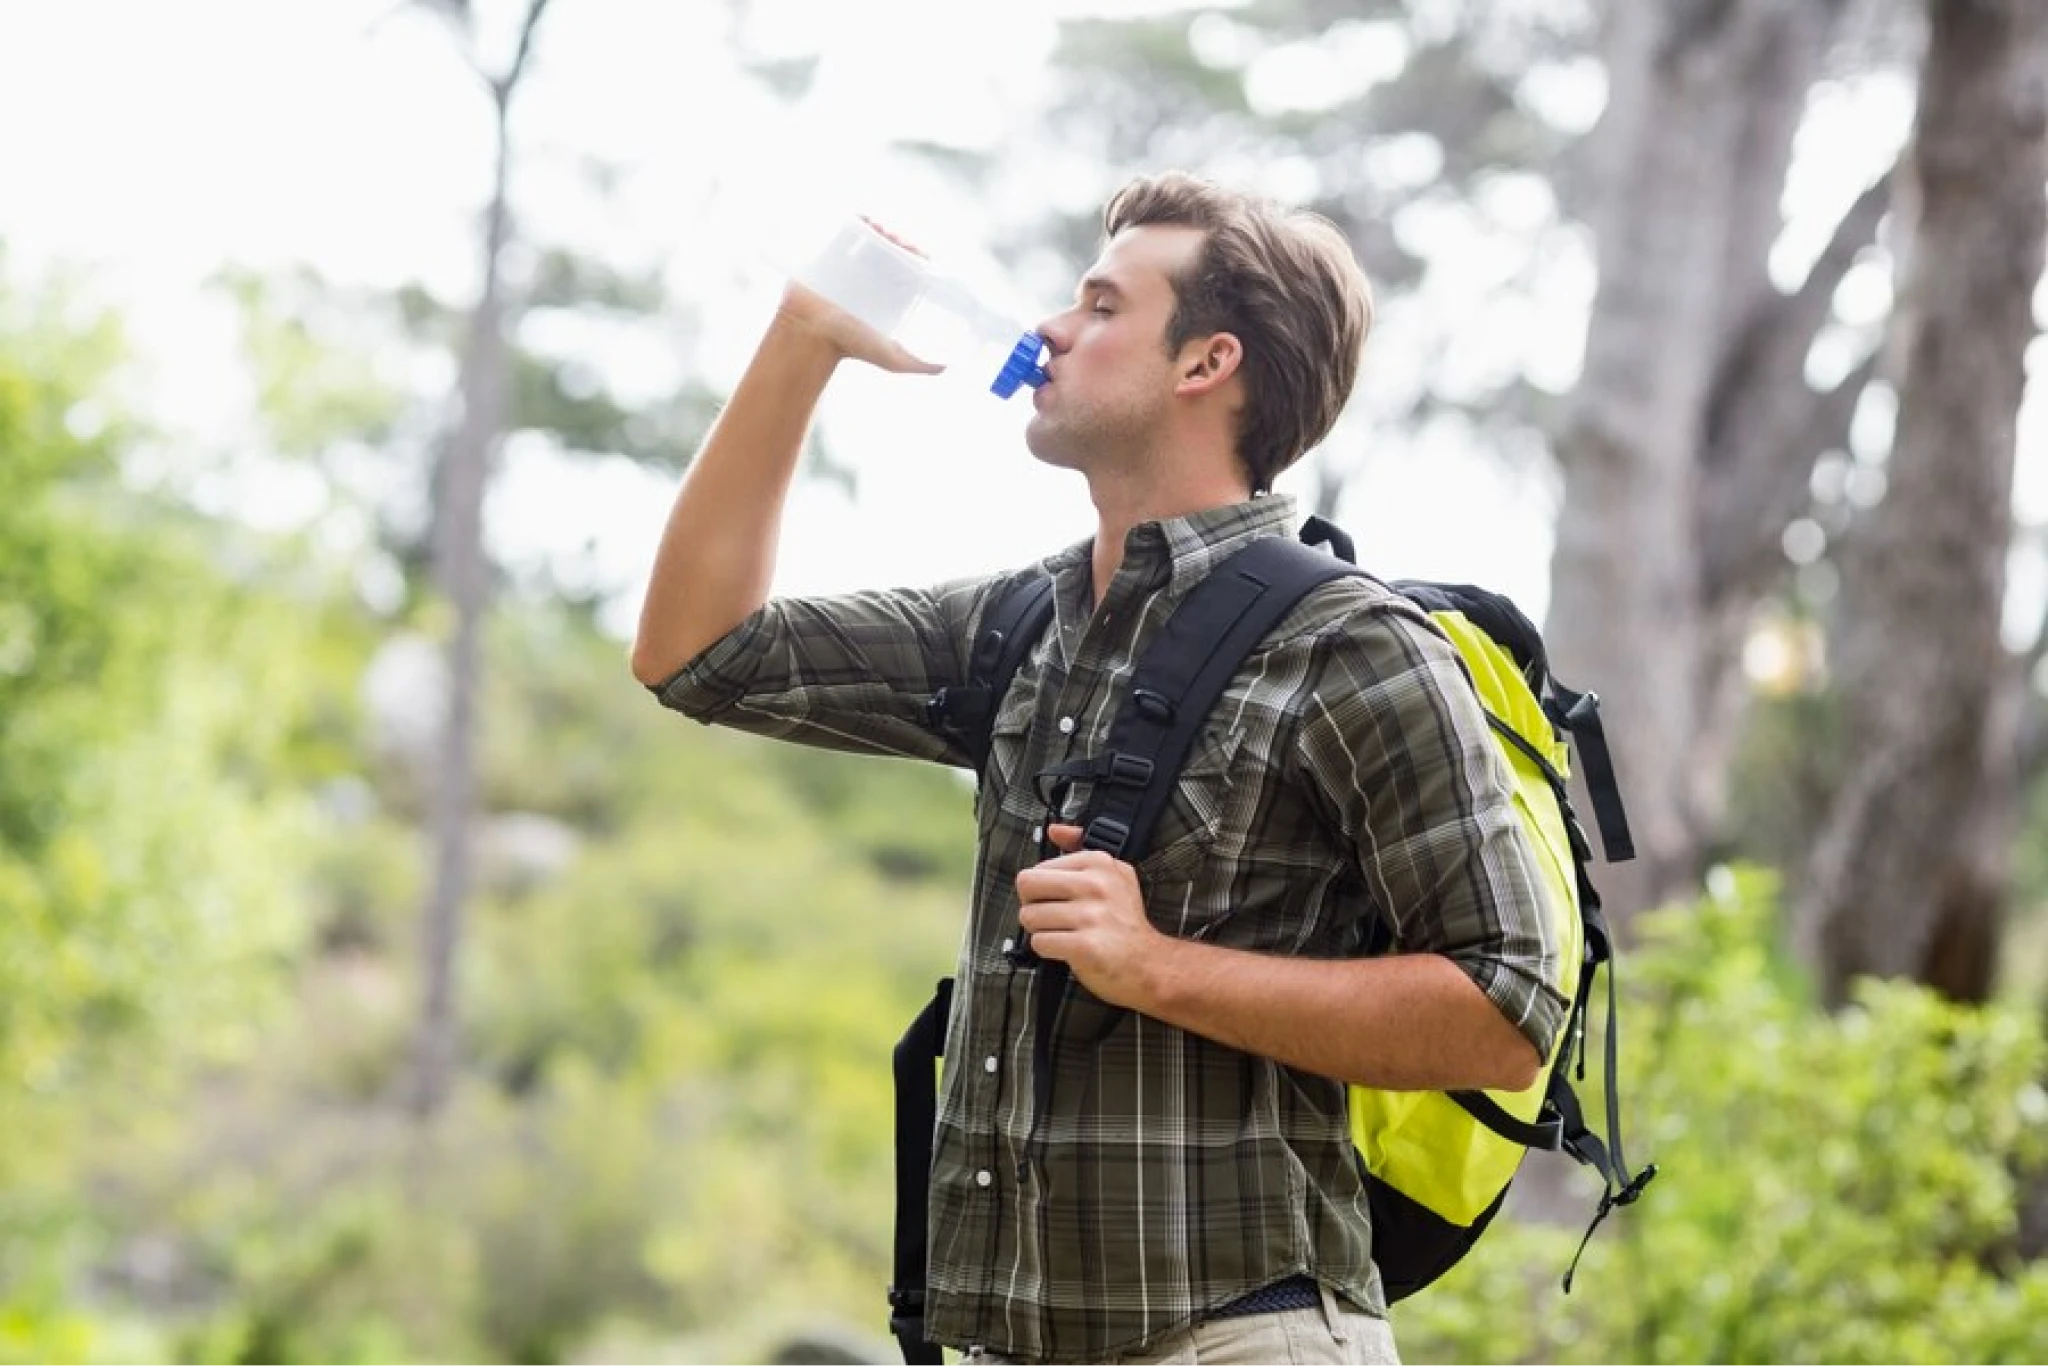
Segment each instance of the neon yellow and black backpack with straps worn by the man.
M1323 545L1329 551L1317 549ZM1100 778L1081 815L1085 848L1128 862L1145 856L1151 823L1174 793L1180 764L1239 664L1303 596L1350 573L1364 573L1354 565L1350 537L1323 518L1309 518L1298 541L1262 537L1188 594L1139 659L1104 754L1085 762ZM1602 1178L1599 1206L1579 1243L1581 1253L1608 1212L1632 1204L1657 1167L1630 1173L1622 1151L1614 944L1587 874L1591 846L1567 791L1569 758L1577 750L1608 862L1632 858L1599 698L1550 676L1540 633L1507 598L1468 584L1407 580L1389 588L1421 606L1444 631L1479 692L1513 778L1516 815L1536 846L1563 944L1563 981L1556 985L1571 1001L1550 1057L1524 1092L1348 1090L1352 1139L1366 1171L1372 1212L1372 1260L1386 1300L1397 1303L1432 1284L1477 1243L1499 1212L1528 1149L1569 1153ZM969 682L930 698L932 723L967 745L977 772L987 764L995 707L1051 618L1051 578L1034 578L991 604L969 659ZM1065 965L1030 961L1040 973L1065 973ZM1585 1077L1587 1004L1602 965L1610 969L1608 1143L1587 1126L1571 1085L1573 1075ZM938 983L895 1049L897 1227L889 1327L907 1366L938 1366L942 1360L940 1350L924 1339L924 1284L934 1075L944 1049L950 989L950 979ZM1051 1014L1063 991L1063 979L1040 985L1034 1061L1044 1053ZM1563 1278L1567 1294L1577 1262L1579 1255L1573 1255Z

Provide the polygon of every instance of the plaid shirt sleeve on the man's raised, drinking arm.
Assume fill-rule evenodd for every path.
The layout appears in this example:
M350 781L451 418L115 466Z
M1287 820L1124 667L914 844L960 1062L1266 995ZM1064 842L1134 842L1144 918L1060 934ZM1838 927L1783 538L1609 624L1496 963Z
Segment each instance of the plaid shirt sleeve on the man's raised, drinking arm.
M823 750L965 766L926 702L967 676L989 580L774 598L649 690L707 725Z

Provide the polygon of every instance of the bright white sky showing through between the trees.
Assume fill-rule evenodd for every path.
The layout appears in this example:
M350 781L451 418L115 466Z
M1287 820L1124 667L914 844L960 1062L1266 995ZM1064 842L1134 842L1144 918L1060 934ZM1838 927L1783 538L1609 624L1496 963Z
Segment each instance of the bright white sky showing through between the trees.
M389 18L393 8L395 0L0 0L0 242L16 272L55 260L90 268L96 293L133 322L156 381L152 405L205 446L246 430L225 317L201 293L223 262L311 262L344 283L428 279L449 297L471 293L471 215L487 188L485 102L449 37L412 14ZM506 0L479 8L514 10ZM889 158L885 143L1012 133L1012 111L1036 88L1059 14L1171 4L1053 0L1004 10L999 20L948 0L766 4L772 23L823 51L801 115L733 80L713 27L717 8L555 0L520 106L528 147L541 154L520 203L537 225L664 264L678 293L719 281L705 328L723 342L711 365L729 379L772 299L764 221L823 221L840 207L866 207L936 258L999 287L999 264L979 254L975 207L932 172ZM1903 127L1896 98L1845 102L1829 119L1849 141L1843 129ZM621 168L623 197L602 217L549 170L569 152ZM1810 240L1876 160L1864 139L1862 154L1823 150L1804 164L1819 168L1806 176L1808 201L1821 205L1804 229ZM1794 229L1788 250L1798 246ZM1466 307L1458 283L1468 295L1483 279L1442 272L1430 307ZM1569 313L1583 307L1589 276L1563 281L1559 307L1530 326L1552 330L1563 342L1552 350L1571 354ZM1882 281L1866 285L1882 293ZM1053 303L1012 299L1020 313ZM2044 358L2040 346L2034 358ZM1368 352L1368 405L1374 365L1397 371L1415 360ZM1569 367L1559 379L1569 381ZM842 373L821 424L858 469L858 502L827 487L797 494L778 586L930 582L1022 563L1085 535L1079 483L1030 461L1024 414L1022 401L942 383ZM2036 494L2023 502L2048 516L2038 465L2028 461ZM303 479L250 479L225 498L276 524L326 516ZM1442 498L1462 500L1462 535L1415 514L1419 500ZM492 524L504 545L528 549L571 551L594 539L604 571L631 586L666 504L666 481L639 471L514 451ZM1491 582L1540 618L1552 506L1540 475L1503 475L1444 434L1432 449L1368 465L1346 522L1391 575ZM336 535L346 547L348 528Z

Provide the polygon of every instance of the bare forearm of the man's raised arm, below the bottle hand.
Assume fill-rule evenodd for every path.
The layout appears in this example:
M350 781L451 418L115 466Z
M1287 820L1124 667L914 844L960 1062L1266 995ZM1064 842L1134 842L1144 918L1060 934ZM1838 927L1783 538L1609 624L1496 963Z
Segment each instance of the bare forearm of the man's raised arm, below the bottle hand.
M768 326L662 530L633 639L643 684L672 676L768 600L782 504L838 360L829 340L786 315Z

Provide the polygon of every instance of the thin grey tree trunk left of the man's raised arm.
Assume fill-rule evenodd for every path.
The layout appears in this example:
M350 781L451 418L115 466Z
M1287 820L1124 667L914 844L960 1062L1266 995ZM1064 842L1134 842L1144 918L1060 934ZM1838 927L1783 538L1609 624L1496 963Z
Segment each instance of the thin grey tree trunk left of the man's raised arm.
M461 1057L455 967L463 913L473 883L471 821L477 805L477 731L481 725L483 621L489 610L492 561L483 545L483 502L508 420L504 254L512 240L508 184L512 172L512 96L532 53L535 27L549 0L530 0L518 53L504 76L487 80L494 115L492 201L483 213L483 283L469 315L461 367L461 420L440 467L434 528L434 578L449 600L446 707L430 831L432 887L420 922L420 1026L414 1038L412 1112L440 1110Z

